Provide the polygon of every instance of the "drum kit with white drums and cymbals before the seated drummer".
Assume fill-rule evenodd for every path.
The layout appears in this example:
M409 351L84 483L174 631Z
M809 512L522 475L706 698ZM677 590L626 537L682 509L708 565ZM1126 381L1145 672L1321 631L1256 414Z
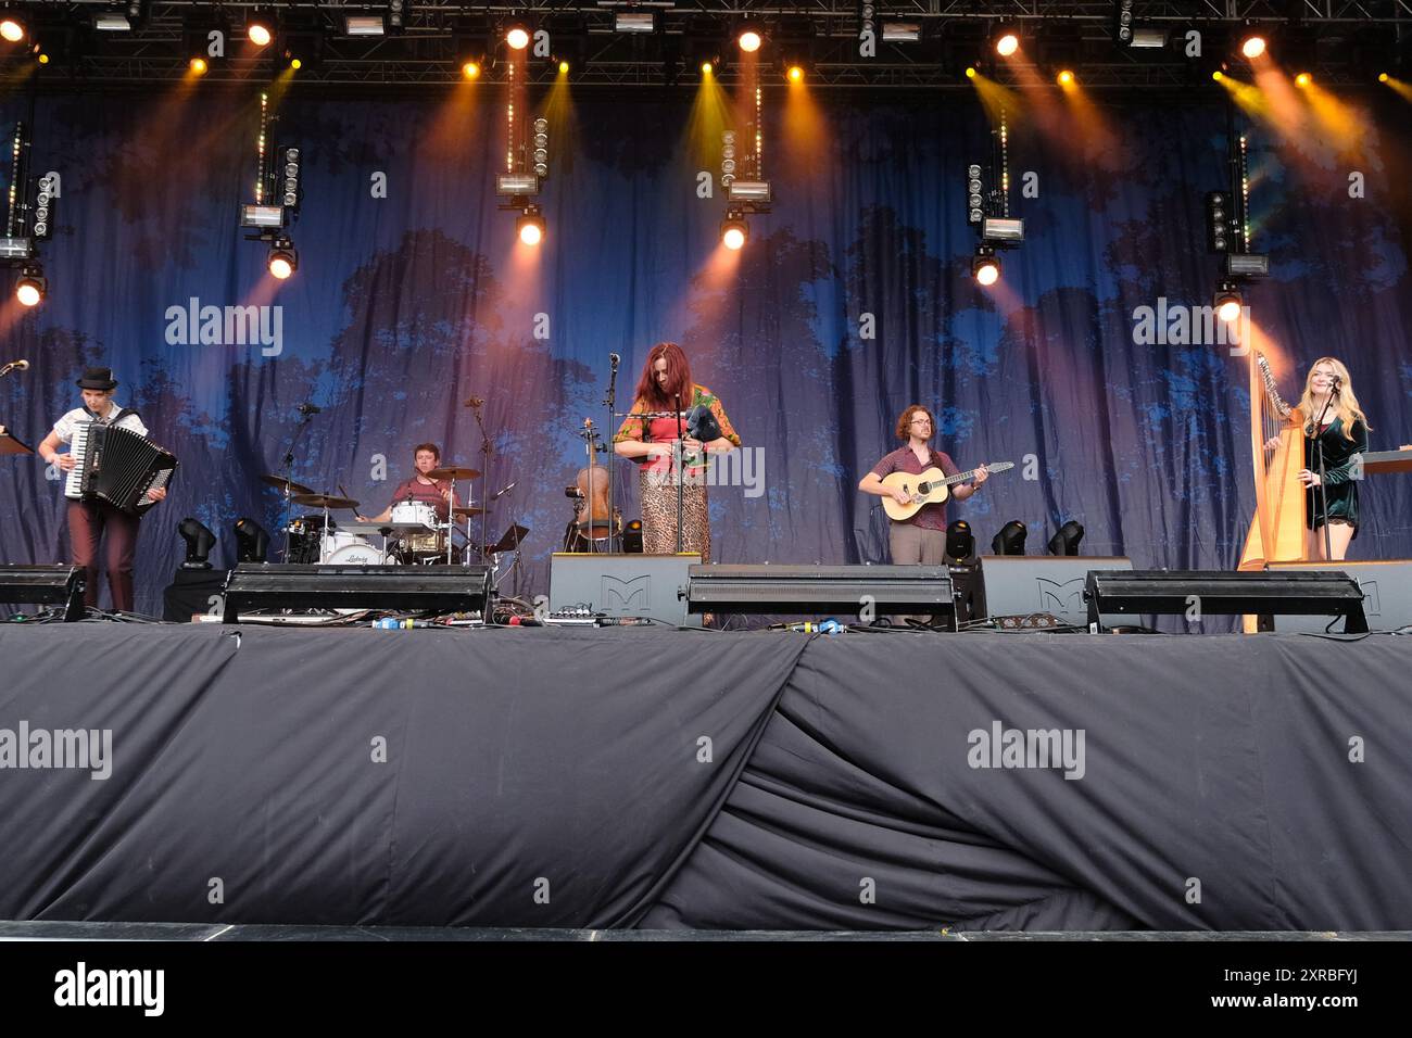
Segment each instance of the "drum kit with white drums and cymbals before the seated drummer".
M472 480L480 473L462 466L445 466L426 473L428 479L450 480L452 496L457 480ZM436 508L428 501L397 501L388 523L336 521L329 513L356 510L350 497L321 494L312 487L282 476L261 476L264 483L280 490L294 504L316 508L313 514L289 520L287 562L304 565L397 566L397 565L460 565L470 563L479 554L470 537L470 520L484 515L481 506L452 508L441 523ZM457 520L466 521L465 547L455 544ZM377 539L374 539L377 538Z

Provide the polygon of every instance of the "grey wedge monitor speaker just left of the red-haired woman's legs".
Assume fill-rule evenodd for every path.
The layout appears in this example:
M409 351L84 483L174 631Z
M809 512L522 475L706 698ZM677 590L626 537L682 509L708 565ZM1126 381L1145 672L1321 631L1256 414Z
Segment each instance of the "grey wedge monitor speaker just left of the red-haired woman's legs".
M555 552L549 559L549 612L586 609L613 619L651 617L674 627L700 627L678 592L689 569L700 563L698 552L682 555L602 555Z

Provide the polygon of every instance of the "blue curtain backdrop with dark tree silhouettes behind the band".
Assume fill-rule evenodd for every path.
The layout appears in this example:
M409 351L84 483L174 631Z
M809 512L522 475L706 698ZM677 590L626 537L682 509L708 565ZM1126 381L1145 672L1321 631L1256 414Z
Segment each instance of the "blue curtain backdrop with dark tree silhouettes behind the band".
M483 88L480 99L288 97L275 138L305 158L288 282L237 227L237 205L253 201L253 92L40 99L34 160L61 172L61 232L42 254L48 299L32 312L0 304L0 360L32 363L0 381L0 424L37 443L78 405L79 369L114 369L117 400L181 459L171 499L143 523L140 610L161 612L184 515L219 534L217 563L233 559L240 515L278 537L278 493L257 476L280 470L305 401L322 414L294 477L380 510L421 441L483 467L462 405L483 397L491 490L517 480L490 534L518 513L532 531L522 590L546 590L563 487L583 463L576 432L585 417L606 421L607 356L623 354L627 410L664 339L688 349L696 380L762 449L761 494L712 490L720 561L881 559L885 520L856 483L895 446L898 412L922 402L964 467L1019 466L953 510L986 544L1021 518L1031 552L1043 551L1076 518L1086 554L1234 566L1254 508L1247 362L1219 345L1145 342L1134 318L1161 298L1210 302L1203 195L1224 184L1223 96L1100 107L1086 126L1101 133L1079 133L1063 109L1017 112L1012 208L1028 233L1003 256L1001 284L981 290L963 171L988 121L970 95L802 105L767 93L778 202L726 254L719 189L698 193L719 157L693 131L689 93L558 100L548 237L530 250L496 209L504 130ZM1374 449L1387 449L1412 442L1412 120L1401 102L1350 103L1361 129L1344 140L1313 120L1281 134L1241 116L1255 247L1272 257L1250 301L1286 397L1316 357L1344 359ZM24 110L10 96L0 116L13 124ZM193 299L280 306L278 353L171 342L169 308ZM635 515L631 466L614 470ZM1412 482L1370 477L1363 493L1353 556L1412 555ZM55 472L3 459L0 558L66 558L64 515Z

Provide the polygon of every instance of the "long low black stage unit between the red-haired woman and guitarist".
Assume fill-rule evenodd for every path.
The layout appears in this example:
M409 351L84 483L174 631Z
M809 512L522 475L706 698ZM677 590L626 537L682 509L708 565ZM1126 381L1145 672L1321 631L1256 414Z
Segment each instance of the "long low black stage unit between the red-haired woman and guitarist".
M880 617L942 614L955 627L946 566L692 566L685 593L692 613L858 616L871 600Z

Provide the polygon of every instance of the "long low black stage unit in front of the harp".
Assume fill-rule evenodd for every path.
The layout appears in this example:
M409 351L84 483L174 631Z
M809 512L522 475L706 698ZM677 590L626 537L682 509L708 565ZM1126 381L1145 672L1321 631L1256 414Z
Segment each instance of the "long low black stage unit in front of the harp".
M1358 582L1341 571L1240 573L1200 569L1152 569L1131 573L1089 573L1084 597L1090 627L1100 616L1165 613L1185 616L1341 616L1346 630L1368 630Z

